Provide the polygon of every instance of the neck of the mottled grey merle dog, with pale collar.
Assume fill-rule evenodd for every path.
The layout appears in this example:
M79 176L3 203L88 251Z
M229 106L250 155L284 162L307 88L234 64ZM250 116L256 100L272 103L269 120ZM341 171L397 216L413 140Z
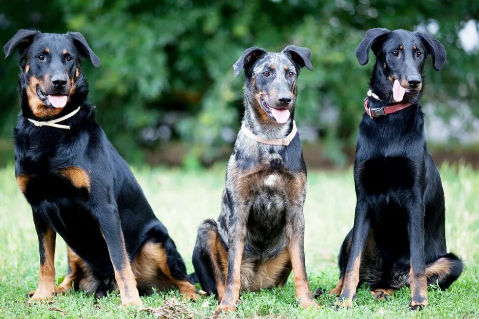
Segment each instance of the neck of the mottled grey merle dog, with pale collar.
M245 113L243 115L242 123L254 135L262 139L281 139L286 137L293 130L294 111L291 110L291 115L286 123L280 124L276 120L271 119L264 121L259 117L258 110L253 104L245 98ZM262 110L261 110L262 111Z

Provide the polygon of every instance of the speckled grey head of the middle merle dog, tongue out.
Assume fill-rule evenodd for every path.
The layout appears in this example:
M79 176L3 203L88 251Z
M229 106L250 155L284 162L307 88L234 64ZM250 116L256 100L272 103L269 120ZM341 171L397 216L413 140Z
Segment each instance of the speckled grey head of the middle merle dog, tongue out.
M245 95L260 120L285 123L294 109L301 68L312 70L308 48L287 46L280 53L249 48L233 65L234 75L245 70Z

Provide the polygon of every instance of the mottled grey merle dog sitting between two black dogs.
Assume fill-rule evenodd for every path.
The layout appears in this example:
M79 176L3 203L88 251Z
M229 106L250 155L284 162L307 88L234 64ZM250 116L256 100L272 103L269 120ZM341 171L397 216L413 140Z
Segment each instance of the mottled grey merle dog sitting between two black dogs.
M235 310L240 290L282 286L291 269L303 307L311 298L304 256L306 165L296 134L298 75L312 70L310 50L246 50L234 64L245 70L245 113L226 169L221 214L198 229L193 265L219 311Z

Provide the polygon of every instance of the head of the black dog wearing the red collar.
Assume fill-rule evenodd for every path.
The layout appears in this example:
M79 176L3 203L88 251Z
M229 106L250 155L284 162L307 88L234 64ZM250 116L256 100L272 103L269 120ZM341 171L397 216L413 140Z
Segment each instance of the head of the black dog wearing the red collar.
M375 73L380 75L371 85L378 84L376 89L382 90L386 100L392 98L394 102L417 102L423 89L424 61L429 54L437 71L446 60L443 45L427 32L370 29L356 49L361 65L367 63L370 49L376 55Z

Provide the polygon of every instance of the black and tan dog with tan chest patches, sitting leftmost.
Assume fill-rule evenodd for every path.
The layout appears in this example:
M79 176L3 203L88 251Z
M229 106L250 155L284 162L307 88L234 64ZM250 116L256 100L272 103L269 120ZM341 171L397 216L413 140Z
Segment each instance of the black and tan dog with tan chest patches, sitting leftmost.
M185 265L127 163L95 122L81 60L100 60L82 34L19 30L21 114L15 175L31 205L40 278L28 302L72 287L97 296L119 289L123 305L177 286L196 298ZM69 273L55 286L55 238L68 245Z

